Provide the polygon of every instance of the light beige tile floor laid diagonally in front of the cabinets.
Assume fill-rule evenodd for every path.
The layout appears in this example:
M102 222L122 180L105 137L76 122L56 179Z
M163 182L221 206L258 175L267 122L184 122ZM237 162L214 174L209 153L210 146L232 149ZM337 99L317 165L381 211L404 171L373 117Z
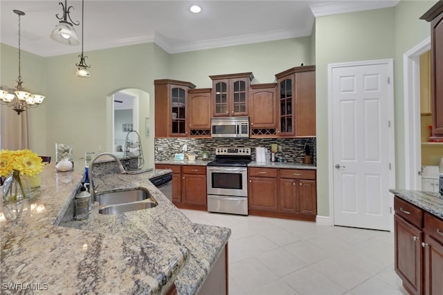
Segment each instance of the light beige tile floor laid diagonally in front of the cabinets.
M315 222L181 210L229 227L229 294L404 295L394 235Z

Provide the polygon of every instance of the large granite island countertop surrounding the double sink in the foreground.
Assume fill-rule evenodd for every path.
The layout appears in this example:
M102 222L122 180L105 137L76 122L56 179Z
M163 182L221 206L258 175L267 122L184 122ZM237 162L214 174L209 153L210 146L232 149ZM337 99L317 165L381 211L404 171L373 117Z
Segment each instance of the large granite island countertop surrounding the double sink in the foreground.
M80 167L80 168L78 168ZM161 294L175 283L196 294L228 241L230 229L190 222L148 180L170 171L94 178L98 192L146 189L157 206L62 222L84 175L45 166L42 186L20 202L1 202L1 283L39 284L51 294ZM5 291L16 292L16 289ZM21 290L21 289L20 289Z

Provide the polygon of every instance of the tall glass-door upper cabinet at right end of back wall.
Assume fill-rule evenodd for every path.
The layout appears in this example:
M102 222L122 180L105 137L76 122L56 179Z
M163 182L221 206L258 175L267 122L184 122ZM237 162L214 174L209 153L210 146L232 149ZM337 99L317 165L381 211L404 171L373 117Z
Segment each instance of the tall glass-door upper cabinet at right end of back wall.
M275 75L278 79L279 136L316 136L315 69L315 66L298 66Z

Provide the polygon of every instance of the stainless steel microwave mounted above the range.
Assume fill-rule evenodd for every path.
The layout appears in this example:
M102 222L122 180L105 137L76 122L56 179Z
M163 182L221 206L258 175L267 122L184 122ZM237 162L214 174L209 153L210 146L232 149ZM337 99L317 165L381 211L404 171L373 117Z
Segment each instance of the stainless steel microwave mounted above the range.
M213 117L212 137L249 137L249 117Z

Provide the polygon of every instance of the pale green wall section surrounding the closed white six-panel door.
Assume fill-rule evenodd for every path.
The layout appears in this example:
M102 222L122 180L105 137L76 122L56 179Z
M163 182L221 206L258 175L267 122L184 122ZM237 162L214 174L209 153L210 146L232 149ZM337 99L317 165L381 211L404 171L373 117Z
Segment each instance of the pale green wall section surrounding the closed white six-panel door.
M394 59L395 160L397 187L404 187L403 54L430 35L419 17L435 1L400 1L395 8L316 19L316 126L318 215L329 216L327 66Z

